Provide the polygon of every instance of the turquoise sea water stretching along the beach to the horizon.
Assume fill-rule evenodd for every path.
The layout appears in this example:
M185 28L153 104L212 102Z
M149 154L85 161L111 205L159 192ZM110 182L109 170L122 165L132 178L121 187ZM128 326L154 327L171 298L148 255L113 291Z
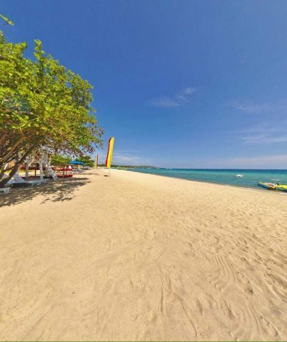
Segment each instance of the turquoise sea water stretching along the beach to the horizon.
M254 170L254 169L133 169L132 171L152 173L154 175L235 185L237 187L258 187L258 182L280 182L287 184L287 170ZM236 178L238 173L244 175ZM264 189L263 189L264 190ZM267 190L266 190L267 191Z

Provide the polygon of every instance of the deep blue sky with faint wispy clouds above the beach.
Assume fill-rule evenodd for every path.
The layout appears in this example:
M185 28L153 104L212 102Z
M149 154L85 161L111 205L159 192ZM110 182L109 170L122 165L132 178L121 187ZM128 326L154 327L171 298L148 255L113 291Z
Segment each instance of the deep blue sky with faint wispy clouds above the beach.
M287 169L287 1L1 0L94 86L114 162Z

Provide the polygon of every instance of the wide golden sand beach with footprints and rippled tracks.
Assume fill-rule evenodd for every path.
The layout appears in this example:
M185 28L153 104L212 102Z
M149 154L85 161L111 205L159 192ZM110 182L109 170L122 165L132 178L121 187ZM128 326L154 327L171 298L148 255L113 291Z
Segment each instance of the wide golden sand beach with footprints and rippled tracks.
M104 173L0 197L0 340L287 339L287 194Z

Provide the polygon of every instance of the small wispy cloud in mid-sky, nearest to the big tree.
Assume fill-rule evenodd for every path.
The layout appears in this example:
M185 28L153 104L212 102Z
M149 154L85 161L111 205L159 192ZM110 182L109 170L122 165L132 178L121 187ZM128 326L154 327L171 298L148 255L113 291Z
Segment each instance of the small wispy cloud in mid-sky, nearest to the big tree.
M180 107L186 102L189 102L191 95L195 91L196 91L196 88L188 87L171 97L163 96L161 98L149 100L148 104L150 105L150 107L161 107L161 108Z

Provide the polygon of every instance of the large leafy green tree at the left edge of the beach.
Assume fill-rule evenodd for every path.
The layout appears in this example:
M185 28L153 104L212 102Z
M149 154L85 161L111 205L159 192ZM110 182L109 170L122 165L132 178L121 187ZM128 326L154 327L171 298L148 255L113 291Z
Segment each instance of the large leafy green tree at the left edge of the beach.
M92 86L47 56L40 40L34 61L24 57L25 49L25 42L7 42L0 32L0 186L40 148L80 156L102 146ZM1 180L11 161L10 177Z

